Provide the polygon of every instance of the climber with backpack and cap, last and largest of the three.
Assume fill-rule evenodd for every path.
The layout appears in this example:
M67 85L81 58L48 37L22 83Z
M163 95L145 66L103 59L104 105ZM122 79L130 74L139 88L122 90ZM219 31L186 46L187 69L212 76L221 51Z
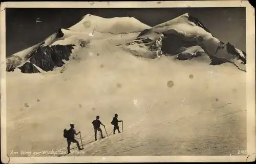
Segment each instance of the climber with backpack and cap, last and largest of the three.
M71 142L73 143L76 143L77 147L78 147L78 150L82 150L79 146L79 142L75 139L75 135L78 135L80 133L80 131L78 133L76 133L76 130L75 130L75 125L74 124L70 124L70 129L67 130L67 129L64 129L64 138L67 139L67 142L68 142L68 154L70 153L70 145L71 145Z

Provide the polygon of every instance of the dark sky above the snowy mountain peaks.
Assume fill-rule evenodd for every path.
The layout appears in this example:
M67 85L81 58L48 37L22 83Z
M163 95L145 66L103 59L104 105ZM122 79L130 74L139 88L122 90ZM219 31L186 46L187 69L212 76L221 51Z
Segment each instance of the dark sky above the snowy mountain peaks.
M246 52L245 8L6 8L6 56L69 28L86 14L104 18L135 17L154 26L184 13L198 18L216 38ZM39 18L41 22L36 23Z

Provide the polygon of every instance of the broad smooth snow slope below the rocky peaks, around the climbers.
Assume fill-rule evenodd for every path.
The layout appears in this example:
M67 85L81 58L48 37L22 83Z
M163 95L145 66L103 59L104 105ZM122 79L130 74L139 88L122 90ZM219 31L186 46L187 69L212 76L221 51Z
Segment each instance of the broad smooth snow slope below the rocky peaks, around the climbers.
M92 120L99 115L110 133L115 113L124 120L123 133L85 145L83 155L229 155L246 149L243 71L170 57L138 59L105 42L91 44L62 73L7 72L8 152L66 150L62 132L70 123L89 143Z

